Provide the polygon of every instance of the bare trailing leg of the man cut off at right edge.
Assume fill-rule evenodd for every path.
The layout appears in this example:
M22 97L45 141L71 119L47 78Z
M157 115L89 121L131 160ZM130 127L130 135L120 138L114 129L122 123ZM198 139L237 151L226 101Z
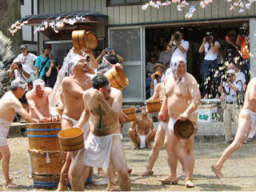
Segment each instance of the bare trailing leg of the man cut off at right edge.
M250 134L250 114L240 113L238 118L239 126L238 131L235 134L234 141L224 150L222 157L218 159L218 162L212 166L212 170L218 178L222 178L223 174L221 173L222 166L224 162L234 153L234 151L239 150L242 147L242 143L246 140Z

